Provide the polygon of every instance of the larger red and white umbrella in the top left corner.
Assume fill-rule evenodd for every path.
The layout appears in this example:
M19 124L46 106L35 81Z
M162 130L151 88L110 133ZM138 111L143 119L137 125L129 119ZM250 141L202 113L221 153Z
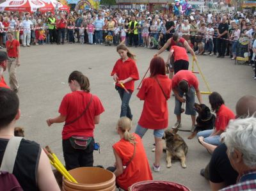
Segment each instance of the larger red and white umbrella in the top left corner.
M0 4L0 11L28 11L34 12L45 6L41 0L11 0Z

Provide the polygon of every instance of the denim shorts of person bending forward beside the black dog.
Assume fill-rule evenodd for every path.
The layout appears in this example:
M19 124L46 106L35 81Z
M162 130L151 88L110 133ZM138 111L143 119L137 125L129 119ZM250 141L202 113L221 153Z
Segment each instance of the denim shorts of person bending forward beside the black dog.
M179 96L182 97L183 95L184 95L184 93L182 93L182 91L179 89ZM185 114L195 116L196 115L196 111L194 109L195 88L193 86L191 86L188 89L188 93L186 93L185 96L186 96ZM175 97L175 107L174 107L174 114L175 115L179 116L181 114L181 112L180 112L181 106L182 106L182 103Z

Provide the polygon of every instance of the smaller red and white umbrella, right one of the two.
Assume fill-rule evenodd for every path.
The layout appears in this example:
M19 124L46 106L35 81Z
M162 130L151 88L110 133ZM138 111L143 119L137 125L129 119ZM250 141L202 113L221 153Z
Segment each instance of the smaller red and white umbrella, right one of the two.
M45 6L40 8L40 11L42 12L47 12L51 11L53 12L54 10L60 10L60 11L70 11L70 8L67 5L63 5L60 2L56 0L42 0L45 3Z

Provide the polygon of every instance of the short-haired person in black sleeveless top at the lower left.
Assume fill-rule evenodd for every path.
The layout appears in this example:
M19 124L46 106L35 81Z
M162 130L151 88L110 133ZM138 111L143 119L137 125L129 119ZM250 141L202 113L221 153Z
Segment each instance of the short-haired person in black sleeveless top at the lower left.
M8 141L14 137L15 123L19 118L18 96L10 89L0 88L0 163ZM25 191L60 190L49 158L36 142L26 139L20 141L13 174Z

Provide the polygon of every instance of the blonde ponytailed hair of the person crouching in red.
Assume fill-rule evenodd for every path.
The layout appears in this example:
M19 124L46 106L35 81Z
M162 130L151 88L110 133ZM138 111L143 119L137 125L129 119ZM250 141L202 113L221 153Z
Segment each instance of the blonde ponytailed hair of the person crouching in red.
M116 128L119 128L124 133L124 140L135 144L135 137L129 132L131 127L132 121L127 117L121 117L116 124Z

